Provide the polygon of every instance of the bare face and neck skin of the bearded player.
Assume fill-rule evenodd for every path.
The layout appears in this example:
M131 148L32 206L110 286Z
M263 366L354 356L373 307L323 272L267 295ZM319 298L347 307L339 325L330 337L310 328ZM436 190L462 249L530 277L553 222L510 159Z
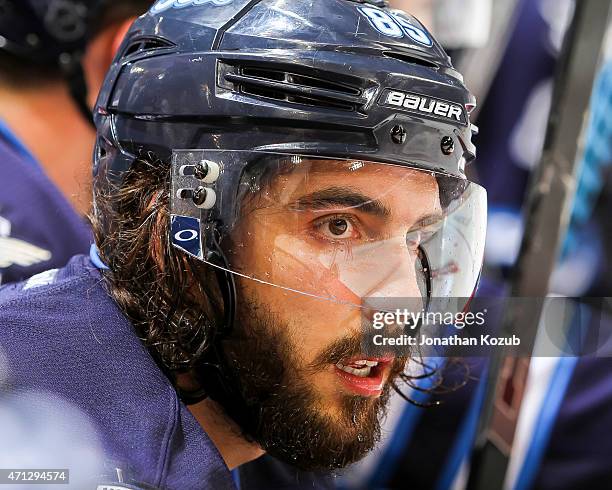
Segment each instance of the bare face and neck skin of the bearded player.
M330 182L333 192L327 192ZM349 191L368 199L349 206L333 197ZM232 235L232 267L306 294L238 279L238 297L264 306L275 324L287 329L300 377L316 387L316 409L351 434L359 428L346 420L343 406L355 393L342 382L335 364L320 365L322 352L359 334L363 310L358 306L365 296L382 292L420 297L414 230L440 215L436 180L431 174L391 165L366 163L355 171L354 162L305 162L297 171L275 178L254 199L245 199L248 212ZM372 246L377 248L369 252ZM368 262L376 267L368 268ZM377 269L380 277L372 280ZM398 275L404 280L397 281ZM355 283L363 281L369 286L357 291ZM385 383L390 381L388 371L383 374ZM367 402L376 398L372 395ZM228 467L262 454L256 444L240 438L214 402L190 410Z

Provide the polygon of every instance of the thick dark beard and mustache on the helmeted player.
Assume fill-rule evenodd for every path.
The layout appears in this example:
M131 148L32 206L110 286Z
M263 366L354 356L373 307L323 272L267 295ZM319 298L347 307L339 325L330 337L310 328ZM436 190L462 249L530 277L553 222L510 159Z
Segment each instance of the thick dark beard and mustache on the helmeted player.
M261 306L241 310L233 335L223 343L223 370L229 373L233 400L218 401L234 413L243 436L305 471L342 468L365 456L380 440L390 383L378 398L345 395L340 416L331 419L322 413L309 381L309 375L360 354L361 338L335 342L304 367L294 355L287 325ZM389 381L404 364L396 360Z

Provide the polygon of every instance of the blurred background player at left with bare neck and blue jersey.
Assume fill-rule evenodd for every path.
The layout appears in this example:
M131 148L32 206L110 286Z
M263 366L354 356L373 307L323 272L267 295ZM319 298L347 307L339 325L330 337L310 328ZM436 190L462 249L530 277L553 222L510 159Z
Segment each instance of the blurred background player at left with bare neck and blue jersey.
M91 108L151 3L0 0L0 283L88 250Z

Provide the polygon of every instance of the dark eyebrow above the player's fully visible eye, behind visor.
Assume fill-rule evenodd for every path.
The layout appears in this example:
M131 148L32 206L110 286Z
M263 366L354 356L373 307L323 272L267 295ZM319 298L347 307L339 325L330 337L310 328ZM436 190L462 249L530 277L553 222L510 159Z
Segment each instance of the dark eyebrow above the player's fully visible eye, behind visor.
M291 207L298 210L358 208L359 211L388 218L391 210L382 201L372 199L350 187L328 187L300 197Z

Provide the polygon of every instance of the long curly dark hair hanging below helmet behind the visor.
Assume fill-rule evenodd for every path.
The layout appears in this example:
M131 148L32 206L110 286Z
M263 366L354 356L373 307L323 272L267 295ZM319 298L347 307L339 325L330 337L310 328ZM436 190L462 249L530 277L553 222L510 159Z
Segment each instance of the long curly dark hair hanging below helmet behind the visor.
M170 244L169 182L170 163L142 154L119 187L96 186L90 221L108 293L173 377L208 349L223 302L210 267Z

